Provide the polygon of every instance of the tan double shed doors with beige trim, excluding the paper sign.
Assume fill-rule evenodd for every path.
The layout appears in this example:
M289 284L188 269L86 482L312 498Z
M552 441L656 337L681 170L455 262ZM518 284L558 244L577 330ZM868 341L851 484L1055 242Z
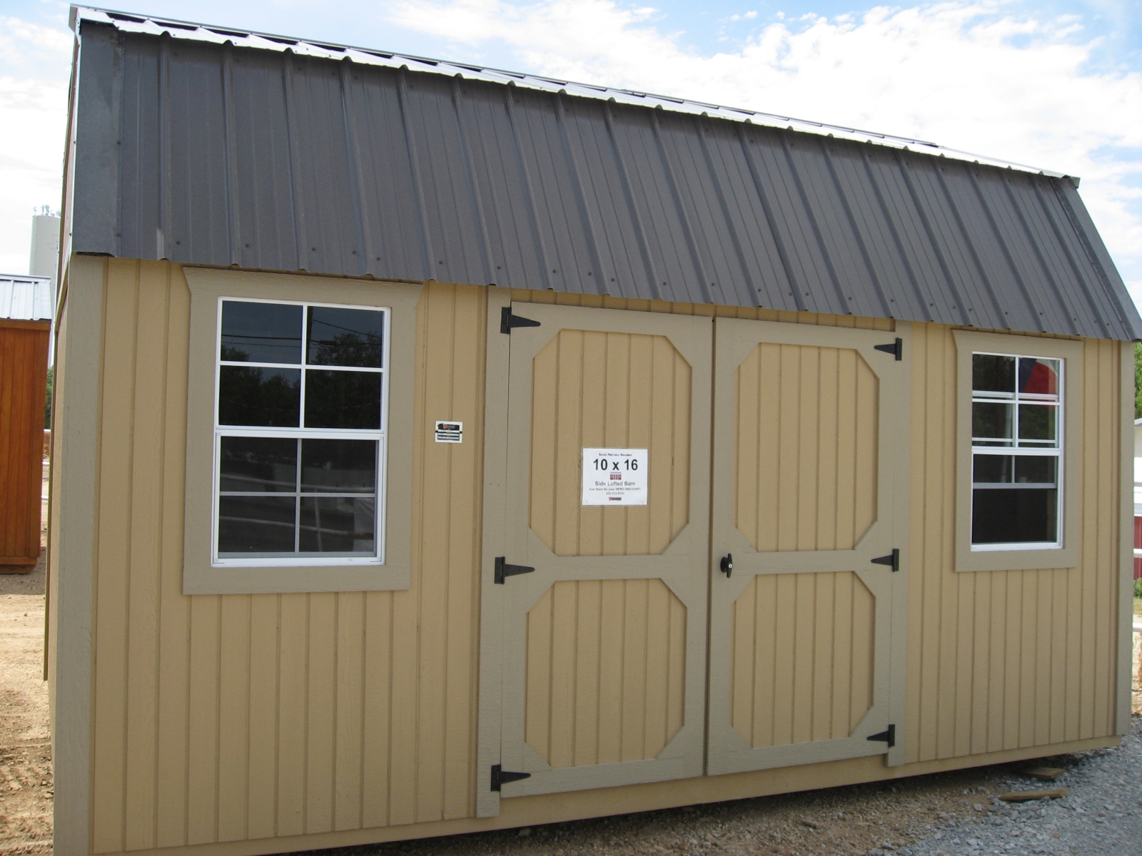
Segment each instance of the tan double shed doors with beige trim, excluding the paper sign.
M893 336L505 309L536 324L489 348L480 757L526 777L481 782L478 814L890 751ZM645 450L645 504L582 504L590 447Z

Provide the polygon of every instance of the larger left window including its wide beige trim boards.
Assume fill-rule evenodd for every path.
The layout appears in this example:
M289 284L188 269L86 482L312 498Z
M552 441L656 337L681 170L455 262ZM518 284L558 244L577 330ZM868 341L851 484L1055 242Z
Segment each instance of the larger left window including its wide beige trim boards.
M183 592L409 588L421 286L182 272Z

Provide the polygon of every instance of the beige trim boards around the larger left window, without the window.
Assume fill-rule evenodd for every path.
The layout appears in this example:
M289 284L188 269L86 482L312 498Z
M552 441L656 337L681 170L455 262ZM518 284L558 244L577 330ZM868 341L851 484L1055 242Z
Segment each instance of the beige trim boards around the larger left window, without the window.
M186 412L183 593L258 595L393 591L411 579L416 312L423 286L293 274L184 268L191 292ZM215 365L219 298L387 307L389 364L385 562L216 566L212 558ZM393 370L395 366L395 371ZM272 429L271 429L272 430ZM381 500L378 500L380 502Z

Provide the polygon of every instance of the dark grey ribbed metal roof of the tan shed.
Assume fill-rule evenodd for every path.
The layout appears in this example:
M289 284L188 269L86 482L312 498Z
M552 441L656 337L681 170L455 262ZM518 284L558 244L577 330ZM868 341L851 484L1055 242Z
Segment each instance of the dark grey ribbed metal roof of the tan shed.
M77 13L74 251L1142 338L1065 177Z

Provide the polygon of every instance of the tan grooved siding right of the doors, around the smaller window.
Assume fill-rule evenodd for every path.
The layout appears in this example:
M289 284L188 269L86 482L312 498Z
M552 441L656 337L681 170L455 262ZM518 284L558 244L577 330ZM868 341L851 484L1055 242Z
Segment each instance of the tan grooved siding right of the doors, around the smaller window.
M1080 566L957 573L956 346L950 328L912 325L908 761L1113 734L1119 347L1084 340L1070 378L1085 396Z

